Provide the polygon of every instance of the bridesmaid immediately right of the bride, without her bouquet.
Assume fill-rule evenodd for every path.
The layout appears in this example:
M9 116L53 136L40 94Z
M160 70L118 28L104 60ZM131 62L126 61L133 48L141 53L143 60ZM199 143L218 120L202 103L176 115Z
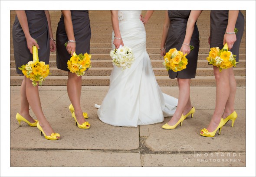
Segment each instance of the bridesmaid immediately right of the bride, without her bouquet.
M184 121L188 115L195 112L194 106L190 100L190 80L196 77L197 57L199 51L199 32L197 29L197 19L202 10L168 10L165 13L165 21L163 35L161 41L161 56L171 48L176 48L188 54L187 68L174 72L168 71L171 79L177 78L179 86L179 100L177 109L171 120L167 122L163 129L175 129L179 123ZM194 50L190 52L190 45L194 46Z

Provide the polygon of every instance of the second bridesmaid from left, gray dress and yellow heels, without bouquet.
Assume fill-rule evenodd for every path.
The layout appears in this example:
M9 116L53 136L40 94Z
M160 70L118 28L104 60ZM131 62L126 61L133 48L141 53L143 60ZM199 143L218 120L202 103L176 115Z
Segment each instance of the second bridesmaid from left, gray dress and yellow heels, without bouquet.
M80 105L80 97L82 90L82 76L71 73L67 68L67 61L73 55L90 53L91 26L88 10L62 10L57 32L57 68L68 71L67 90L71 105L69 109L72 117L80 129L89 129L89 122L85 122L88 118L87 113L83 113ZM67 46L65 43L68 42ZM77 46L76 46L77 44Z

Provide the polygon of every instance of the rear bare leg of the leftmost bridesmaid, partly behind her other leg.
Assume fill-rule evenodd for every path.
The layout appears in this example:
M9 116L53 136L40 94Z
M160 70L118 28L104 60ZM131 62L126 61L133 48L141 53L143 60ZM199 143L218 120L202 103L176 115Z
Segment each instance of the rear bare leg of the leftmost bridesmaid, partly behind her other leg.
M20 115L30 123L34 123L34 119L30 116L30 104L26 98L26 76L23 76L23 81L20 87Z

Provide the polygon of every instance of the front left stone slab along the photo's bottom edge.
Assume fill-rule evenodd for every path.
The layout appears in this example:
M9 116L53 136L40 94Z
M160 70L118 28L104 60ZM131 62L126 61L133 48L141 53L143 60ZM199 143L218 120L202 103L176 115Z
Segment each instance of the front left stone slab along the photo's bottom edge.
M139 153L11 150L10 156L11 167L141 167Z

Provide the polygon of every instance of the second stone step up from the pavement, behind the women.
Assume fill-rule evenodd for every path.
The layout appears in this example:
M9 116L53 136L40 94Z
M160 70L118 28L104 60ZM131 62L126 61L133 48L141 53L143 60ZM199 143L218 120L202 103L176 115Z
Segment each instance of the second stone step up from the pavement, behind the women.
M85 76L110 76L113 68L90 68L85 72ZM165 68L153 68L156 76L166 76L167 70ZM68 72L57 68L50 68L52 76L67 76ZM246 68L234 68L235 76L245 76ZM18 76L16 68L10 68L11 76ZM196 76L214 76L213 68L197 68Z

